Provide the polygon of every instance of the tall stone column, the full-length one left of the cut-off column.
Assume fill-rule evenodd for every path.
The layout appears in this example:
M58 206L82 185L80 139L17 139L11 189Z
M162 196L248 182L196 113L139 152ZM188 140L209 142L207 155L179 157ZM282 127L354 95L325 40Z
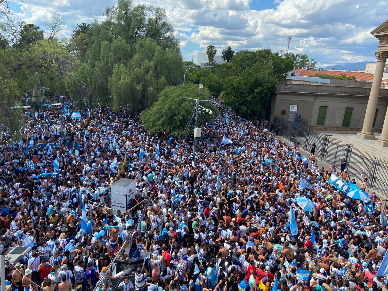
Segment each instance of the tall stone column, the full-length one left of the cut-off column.
M388 52L375 52L377 57L376 71L374 72L374 78L371 88L371 93L369 94L368 105L366 107L364 124L362 125L362 131L357 133L357 137L361 139L374 139L372 135L372 126L374 115L376 114L377 101L379 100L381 80L383 79L383 73L385 69L385 62L388 57ZM388 111L387 111L388 113ZM384 125L388 122L387 116L384 121ZM388 124L387 124L388 130Z

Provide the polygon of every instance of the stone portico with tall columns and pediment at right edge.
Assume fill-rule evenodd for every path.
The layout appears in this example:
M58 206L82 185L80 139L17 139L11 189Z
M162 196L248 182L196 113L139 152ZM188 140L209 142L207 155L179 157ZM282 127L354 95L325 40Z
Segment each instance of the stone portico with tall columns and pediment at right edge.
M375 139L372 134L372 125L376 113L377 104L379 102L379 95L381 90L381 81L385 71L385 63L388 57L388 21L381 24L378 28L371 32L371 35L379 40L377 51L374 53L377 58L376 71L372 82L371 91L369 94L368 104L365 111L364 123L362 130L357 133L360 139ZM380 139L375 141L376 144L383 147L388 146L388 110L386 111L383 129L381 131Z

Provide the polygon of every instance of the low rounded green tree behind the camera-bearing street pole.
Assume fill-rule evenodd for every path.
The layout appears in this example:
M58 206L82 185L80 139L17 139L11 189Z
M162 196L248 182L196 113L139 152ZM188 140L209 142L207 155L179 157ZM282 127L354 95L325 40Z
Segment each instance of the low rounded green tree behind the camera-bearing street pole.
M173 136L182 134L192 116L194 101L178 98L178 96L197 99L198 85L186 83L176 89L173 86L165 87L158 94L158 101L140 114L140 120L145 123L149 131L167 130ZM209 100L210 95L205 89L201 89L199 99ZM199 102L199 104L213 111L213 115L208 113L198 115L198 125L201 126L206 121L213 120L213 116L217 116L217 108L211 102ZM194 128L194 123L192 123L192 128Z

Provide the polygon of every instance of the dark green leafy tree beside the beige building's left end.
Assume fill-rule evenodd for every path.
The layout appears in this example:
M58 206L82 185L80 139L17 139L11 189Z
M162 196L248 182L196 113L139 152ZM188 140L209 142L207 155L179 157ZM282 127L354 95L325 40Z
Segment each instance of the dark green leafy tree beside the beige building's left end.
M204 84L225 106L248 117L263 113L263 104L293 67L294 61L288 56L270 50L244 50L217 68L193 70L187 80Z

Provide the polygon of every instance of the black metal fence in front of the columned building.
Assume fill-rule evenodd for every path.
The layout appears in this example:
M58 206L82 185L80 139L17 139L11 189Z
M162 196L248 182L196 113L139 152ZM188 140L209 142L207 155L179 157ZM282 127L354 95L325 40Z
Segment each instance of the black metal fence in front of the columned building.
M305 151L311 150L311 145L315 142L315 157L335 166L338 170L341 168L341 161L346 159L346 168L350 178L362 180L362 171L364 177L368 178L368 188L378 191L387 197L388 192L388 160L374 155L371 152L362 149L353 148L352 144L346 144L332 135L322 134L316 130L308 129L306 120L285 121L275 116L274 128L279 125L279 135L286 137L291 142L298 143L300 148Z

